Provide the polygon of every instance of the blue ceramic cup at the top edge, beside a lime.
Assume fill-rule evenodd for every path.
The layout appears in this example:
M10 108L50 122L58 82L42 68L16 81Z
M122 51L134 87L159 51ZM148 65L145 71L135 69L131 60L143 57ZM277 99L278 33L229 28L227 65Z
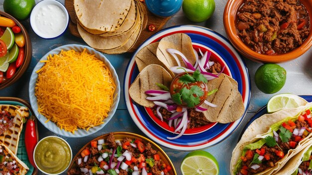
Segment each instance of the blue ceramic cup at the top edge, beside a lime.
M145 0L146 6L156 16L168 17L175 14L183 0Z

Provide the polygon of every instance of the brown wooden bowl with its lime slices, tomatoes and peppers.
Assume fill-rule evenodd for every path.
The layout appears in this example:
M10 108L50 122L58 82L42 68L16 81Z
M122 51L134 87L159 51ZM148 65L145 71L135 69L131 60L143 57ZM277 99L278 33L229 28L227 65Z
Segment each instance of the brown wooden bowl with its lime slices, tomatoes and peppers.
M0 89L3 89L16 82L27 70L31 61L32 47L25 27L17 19L3 11L0 11L0 15L0 34L2 35L2 32L8 30L7 33L14 35L13 44L10 44L6 49L0 48L2 54L5 50L8 53L11 51L11 54L7 55L0 53ZM5 42L4 44L6 45ZM4 57L7 59L5 60Z

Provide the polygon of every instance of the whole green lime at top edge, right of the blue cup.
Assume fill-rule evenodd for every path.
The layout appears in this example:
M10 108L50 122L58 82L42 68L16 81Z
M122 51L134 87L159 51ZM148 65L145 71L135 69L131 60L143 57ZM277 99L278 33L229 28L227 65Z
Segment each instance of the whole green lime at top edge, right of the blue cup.
M185 16L193 22L207 20L214 12L214 0L183 0L182 9Z

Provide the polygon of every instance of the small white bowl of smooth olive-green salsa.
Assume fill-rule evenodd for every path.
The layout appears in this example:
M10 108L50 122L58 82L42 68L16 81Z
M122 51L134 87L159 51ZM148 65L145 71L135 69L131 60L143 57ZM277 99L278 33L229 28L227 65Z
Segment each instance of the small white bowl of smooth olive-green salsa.
M57 136L41 139L33 152L36 167L47 175L59 175L65 172L72 160L69 144Z

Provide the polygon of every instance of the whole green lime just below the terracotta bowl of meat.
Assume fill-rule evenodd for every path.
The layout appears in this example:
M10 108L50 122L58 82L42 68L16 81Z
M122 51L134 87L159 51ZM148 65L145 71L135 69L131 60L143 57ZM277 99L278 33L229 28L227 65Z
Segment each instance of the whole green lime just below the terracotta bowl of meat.
M277 64L264 64L255 74L255 82L259 90L273 94L282 89L286 81L286 70Z

